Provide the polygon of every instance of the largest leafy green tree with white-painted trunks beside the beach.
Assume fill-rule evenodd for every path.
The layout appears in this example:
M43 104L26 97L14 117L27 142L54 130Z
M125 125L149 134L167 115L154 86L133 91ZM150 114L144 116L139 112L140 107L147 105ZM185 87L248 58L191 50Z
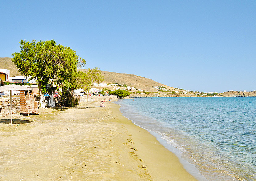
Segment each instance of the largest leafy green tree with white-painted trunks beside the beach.
M40 105L43 106L45 87L50 83L48 89L51 95L50 105L54 106L53 93L56 86L66 82L75 73L77 63L85 65L85 60L78 58L76 52L70 47L56 45L54 40L26 42L21 40L20 53L12 54L12 61L23 76L36 78L40 94Z

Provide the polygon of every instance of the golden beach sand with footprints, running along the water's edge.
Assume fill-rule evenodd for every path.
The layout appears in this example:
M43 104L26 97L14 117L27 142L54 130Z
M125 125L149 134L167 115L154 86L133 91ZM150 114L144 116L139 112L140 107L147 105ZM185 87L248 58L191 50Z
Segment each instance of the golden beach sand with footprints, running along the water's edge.
M118 105L82 104L0 117L0 180L196 180Z

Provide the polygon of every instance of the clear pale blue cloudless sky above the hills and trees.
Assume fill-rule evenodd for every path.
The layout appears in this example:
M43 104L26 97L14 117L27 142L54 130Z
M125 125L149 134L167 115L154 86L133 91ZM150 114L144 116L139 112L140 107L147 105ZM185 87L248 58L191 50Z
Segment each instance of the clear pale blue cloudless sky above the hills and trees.
M0 25L0 57L19 52L22 39L54 39L85 68L193 91L256 90L253 0L0 0Z

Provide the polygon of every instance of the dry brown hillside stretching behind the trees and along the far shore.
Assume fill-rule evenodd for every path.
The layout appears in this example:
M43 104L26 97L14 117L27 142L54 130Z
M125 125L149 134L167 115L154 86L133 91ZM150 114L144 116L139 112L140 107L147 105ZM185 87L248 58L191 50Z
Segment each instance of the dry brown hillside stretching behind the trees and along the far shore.
M0 69L8 69L10 70L10 76L21 75L18 72L18 69L11 61L11 58L0 58ZM78 69L80 71L86 72L86 69ZM170 87L164 85L159 82L155 82L149 78L140 77L134 74L121 74L116 72L107 72L101 71L102 75L104 76L104 83L119 83L126 86L133 86L136 89L142 89L144 91L152 92L149 95L146 94L136 94L137 91L132 91L130 97L198 97L198 96L208 96L206 94L199 94L198 92L187 92L184 94L184 90L179 90L174 87ZM157 91L153 86L163 86L167 89L167 91ZM97 87L97 88L104 88L104 87ZM106 87L108 89L115 90L115 87ZM172 93L172 91L179 91L179 93ZM217 94L217 96L225 96L225 97L237 97L237 96L256 96L256 92L224 92Z

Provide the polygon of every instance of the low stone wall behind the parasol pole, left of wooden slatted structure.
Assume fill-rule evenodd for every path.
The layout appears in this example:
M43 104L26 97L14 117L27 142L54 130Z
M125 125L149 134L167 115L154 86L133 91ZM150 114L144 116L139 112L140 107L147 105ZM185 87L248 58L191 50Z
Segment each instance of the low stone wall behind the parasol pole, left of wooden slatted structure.
M0 115L1 116L8 116L11 114L10 108L10 97L0 97ZM19 114L19 108L20 108L20 101L19 101L19 96L17 97L12 97L12 113L13 114Z

